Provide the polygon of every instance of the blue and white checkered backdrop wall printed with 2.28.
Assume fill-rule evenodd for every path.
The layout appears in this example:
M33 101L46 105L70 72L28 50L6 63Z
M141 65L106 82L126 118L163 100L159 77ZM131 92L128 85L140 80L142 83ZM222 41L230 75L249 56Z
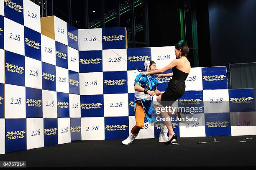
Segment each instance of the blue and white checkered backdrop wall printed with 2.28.
M126 49L122 27L77 30L54 17L54 29L54 39L41 34L40 8L31 1L0 0L0 154L125 139L135 124L135 68L175 59L174 46ZM169 79L159 79L160 91ZM203 110L196 122L173 122L179 137L256 134L253 89L229 90L225 67L192 68L184 101ZM146 123L138 138L159 132L160 123Z

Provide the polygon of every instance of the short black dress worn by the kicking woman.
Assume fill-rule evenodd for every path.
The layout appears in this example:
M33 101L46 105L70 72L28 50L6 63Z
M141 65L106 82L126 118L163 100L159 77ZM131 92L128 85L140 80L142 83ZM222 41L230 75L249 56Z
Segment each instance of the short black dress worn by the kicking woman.
M169 81L168 87L161 96L162 106L172 106L174 101L181 98L184 94L186 85L185 80L187 79L188 73L180 71L176 67L172 68L173 76Z

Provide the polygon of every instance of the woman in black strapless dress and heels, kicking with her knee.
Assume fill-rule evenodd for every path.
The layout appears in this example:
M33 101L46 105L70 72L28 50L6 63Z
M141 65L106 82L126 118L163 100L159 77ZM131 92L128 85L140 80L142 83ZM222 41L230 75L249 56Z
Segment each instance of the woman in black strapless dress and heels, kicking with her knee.
M158 69L155 71L150 72L142 72L141 74L161 74L167 70L172 69L173 76L172 79L169 81L168 87L166 88L165 92L159 96L157 96L156 100L162 104L163 107L172 106L174 101L178 100L185 91L185 80L190 71L190 63L187 60L187 54L189 52L189 48L187 44L181 40L175 46L175 55L176 60L169 63L169 65L165 66L162 69ZM168 112L161 112L162 117L167 118L169 117ZM164 121L166 124L168 131L169 131L169 139L164 144L169 145L172 144L174 140L175 143L177 141L177 135L174 133L172 129L172 122L171 121Z

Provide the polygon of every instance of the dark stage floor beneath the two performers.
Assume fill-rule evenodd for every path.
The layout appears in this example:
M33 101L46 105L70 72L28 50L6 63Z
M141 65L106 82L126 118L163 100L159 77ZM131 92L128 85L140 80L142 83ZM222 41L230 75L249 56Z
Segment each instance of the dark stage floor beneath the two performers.
M122 140L78 141L3 154L0 161L27 161L27 167L256 166L256 136L213 138L178 138L177 146L158 139L136 139L127 146Z

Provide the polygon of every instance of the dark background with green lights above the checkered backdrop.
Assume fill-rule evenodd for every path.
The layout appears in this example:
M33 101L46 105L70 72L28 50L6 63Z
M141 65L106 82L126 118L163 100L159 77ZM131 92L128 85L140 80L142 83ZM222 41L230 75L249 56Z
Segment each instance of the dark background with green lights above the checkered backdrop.
M183 39L193 67L227 66L229 74L230 63L256 62L256 0L31 1L41 16L56 15L78 29L126 27L128 48Z

